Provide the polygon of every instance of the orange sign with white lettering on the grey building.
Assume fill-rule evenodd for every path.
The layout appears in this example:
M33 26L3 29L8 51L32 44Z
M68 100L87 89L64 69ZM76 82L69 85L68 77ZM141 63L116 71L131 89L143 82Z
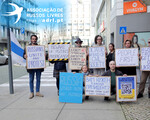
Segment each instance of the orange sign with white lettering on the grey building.
M147 6L140 1L124 2L124 14L147 12Z

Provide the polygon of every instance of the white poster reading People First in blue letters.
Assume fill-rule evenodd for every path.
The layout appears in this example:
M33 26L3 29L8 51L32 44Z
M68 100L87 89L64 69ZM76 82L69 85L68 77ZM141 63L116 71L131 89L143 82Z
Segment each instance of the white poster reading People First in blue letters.
M117 67L139 66L138 48L116 49L115 59Z

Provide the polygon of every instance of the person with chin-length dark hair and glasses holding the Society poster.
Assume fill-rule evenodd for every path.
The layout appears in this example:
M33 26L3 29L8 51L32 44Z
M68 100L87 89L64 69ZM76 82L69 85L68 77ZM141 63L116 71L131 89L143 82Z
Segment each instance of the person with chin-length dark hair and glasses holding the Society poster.
M103 38L100 35L95 36L95 44L92 47L103 47L102 42ZM107 54L107 52L105 51ZM105 68L100 68L100 69L93 69L94 75L102 75L105 72Z

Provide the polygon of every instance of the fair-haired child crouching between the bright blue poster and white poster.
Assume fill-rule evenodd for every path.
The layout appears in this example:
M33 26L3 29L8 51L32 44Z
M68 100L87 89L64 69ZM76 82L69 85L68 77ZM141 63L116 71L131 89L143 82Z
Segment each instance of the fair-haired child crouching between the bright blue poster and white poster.
M83 79L83 86L85 86L85 76L88 76L90 73L89 73L89 69L86 65L83 65L81 67L81 73L83 73L84 75L84 79ZM85 91L85 90L84 90ZM83 92L85 93L85 92ZM85 96L85 99L88 100L89 99L89 96Z

